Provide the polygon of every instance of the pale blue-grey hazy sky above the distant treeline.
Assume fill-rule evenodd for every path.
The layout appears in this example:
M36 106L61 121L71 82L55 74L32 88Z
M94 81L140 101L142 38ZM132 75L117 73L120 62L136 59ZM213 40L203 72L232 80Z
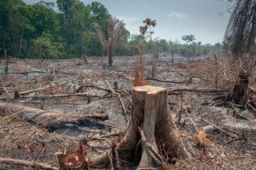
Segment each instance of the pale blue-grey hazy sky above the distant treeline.
M40 0L23 0L34 4ZM44 0L56 2L56 0ZM80 0L91 4L91 0ZM123 20L132 34L140 34L143 20L157 21L152 38L181 40L182 35L195 35L202 44L222 42L230 13L226 0L98 0L113 17Z

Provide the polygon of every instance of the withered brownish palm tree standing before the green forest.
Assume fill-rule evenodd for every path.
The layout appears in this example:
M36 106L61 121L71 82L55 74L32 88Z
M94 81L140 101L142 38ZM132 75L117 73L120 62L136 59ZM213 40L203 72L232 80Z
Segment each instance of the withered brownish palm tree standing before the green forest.
M90 28L94 30L94 33L91 33L91 37L99 40L104 51L107 52L106 62L108 60L109 65L112 65L112 56L116 48L122 42L126 42L124 35L126 35L127 30L125 23L117 18L109 18L106 20L105 26L106 30L104 31L98 23L91 23Z

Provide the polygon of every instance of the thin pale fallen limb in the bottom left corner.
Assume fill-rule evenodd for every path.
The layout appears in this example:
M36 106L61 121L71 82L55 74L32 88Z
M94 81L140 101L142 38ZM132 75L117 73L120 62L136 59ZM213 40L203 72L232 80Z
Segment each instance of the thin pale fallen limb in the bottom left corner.
M0 163L1 164L15 164L15 165L23 165L23 166L30 166L33 169L49 169L49 170L58 170L58 168L51 166L49 164L44 164L40 162L31 162L21 159L10 159L10 158L4 158L0 157Z

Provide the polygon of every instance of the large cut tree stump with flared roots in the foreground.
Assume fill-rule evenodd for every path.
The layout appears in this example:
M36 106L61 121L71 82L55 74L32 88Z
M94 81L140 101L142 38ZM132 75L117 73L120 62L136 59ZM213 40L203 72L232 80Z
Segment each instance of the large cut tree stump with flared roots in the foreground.
M142 136L145 136L145 139L140 142ZM142 150L138 168L159 167L160 164L156 161L157 153L154 154L152 150L158 151L157 143L160 140L165 142L165 151L172 153L169 157L191 158L169 114L167 90L157 86L135 86L133 113L127 133L117 145L118 157L133 161L140 142ZM91 158L90 165L99 167L99 162L95 164L94 159ZM106 164L106 159L102 163Z

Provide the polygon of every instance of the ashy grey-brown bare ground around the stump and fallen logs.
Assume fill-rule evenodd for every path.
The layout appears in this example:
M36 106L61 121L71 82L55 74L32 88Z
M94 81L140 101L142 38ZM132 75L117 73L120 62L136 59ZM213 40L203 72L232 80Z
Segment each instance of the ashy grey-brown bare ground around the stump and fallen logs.
M206 57L212 57L209 54ZM171 54L160 54L157 60L150 60L150 55L143 55L145 75L152 76L152 67L155 67L155 78L169 81L187 81L192 77L190 84L177 84L156 80L147 80L149 85L161 86L166 89L173 87L213 88L204 84L196 74L191 74L196 62L204 60L204 57L187 57L174 55L174 64L171 64ZM109 119L100 121L104 125L113 127L111 132L123 132L128 127L130 118L132 97L130 90L133 87L126 77L133 77L135 63L139 63L139 57L114 57L113 66L104 70L105 58L89 57L89 61L83 60L11 60L9 72L4 74L4 60L0 62L1 88L0 100L6 102L22 103L33 108L46 111L56 111L69 115L82 115L93 113L108 114ZM58 63L58 64L57 64ZM200 68L199 68L200 69ZM72 94L82 84L94 83L106 87L106 81L111 88L118 84L118 89L127 91L121 98L126 107L127 115L123 114L122 106L117 96L106 91L84 87L80 92L87 92L92 96L91 103L83 96L69 96L64 98L12 98L13 91L27 91L37 89L48 84L60 84L70 81L69 84L53 87L46 91L33 92L26 96ZM105 82L104 82L105 81ZM220 87L223 88L223 87ZM232 86L225 87L232 89ZM8 92L8 93L7 93ZM182 123L177 125L184 140L184 145L191 153L193 159L178 160L176 164L169 164L169 169L255 169L256 167L256 118L253 111L239 110L239 114L245 119L236 118L232 108L225 103L216 106L212 99L218 94L200 94L195 92L174 92L169 94L168 103L173 120L177 120L179 98L184 98L183 103L192 107L192 115L204 118L226 132L236 135L237 138L226 135L220 130L214 130L207 134L211 140L211 147L204 149L193 142L193 136L197 134L196 128L187 116L182 113ZM10 116L11 115L11 116ZM204 128L208 123L192 118L197 128ZM177 123L177 121L175 121ZM23 159L43 162L58 167L55 152L62 150L67 154L79 147L79 141L84 137L99 132L96 127L77 127L67 124L66 128L49 129L43 125L28 123L23 118L18 118L13 113L0 112L0 157ZM110 130L105 130L96 135L107 135ZM113 137L102 141L87 142L87 157L104 152L111 147ZM44 146L45 145L45 146ZM136 162L123 162L123 169L136 169ZM1 164L0 169L29 169L26 166Z

